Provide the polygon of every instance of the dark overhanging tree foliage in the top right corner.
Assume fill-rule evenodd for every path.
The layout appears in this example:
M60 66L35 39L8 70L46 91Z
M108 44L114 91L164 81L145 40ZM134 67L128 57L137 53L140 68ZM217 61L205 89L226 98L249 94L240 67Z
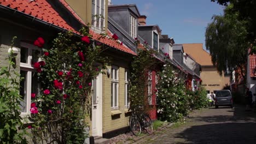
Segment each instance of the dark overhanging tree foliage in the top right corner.
M217 2L220 5L228 6L230 4L234 5L232 9L232 13L238 13L238 20L248 21L248 25L246 27L248 35L247 38L254 44L256 39L256 1L255 0L211 0L212 2ZM255 47L254 47L255 48ZM255 52L255 49L254 49Z

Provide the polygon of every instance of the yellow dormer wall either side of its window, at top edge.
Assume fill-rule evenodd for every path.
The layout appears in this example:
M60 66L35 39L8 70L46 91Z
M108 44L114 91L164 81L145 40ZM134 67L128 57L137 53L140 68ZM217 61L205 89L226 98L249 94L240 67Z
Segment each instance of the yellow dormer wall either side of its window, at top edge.
M91 23L92 0L65 0L77 15L87 24ZM108 28L108 0L105 0L105 31Z

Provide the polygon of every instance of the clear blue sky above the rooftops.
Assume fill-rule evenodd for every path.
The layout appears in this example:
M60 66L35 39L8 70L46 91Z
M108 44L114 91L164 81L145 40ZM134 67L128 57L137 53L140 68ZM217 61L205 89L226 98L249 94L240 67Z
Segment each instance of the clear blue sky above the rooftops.
M207 23L224 9L211 0L112 0L112 4L136 4L147 16L147 25L159 25L176 44L203 43L203 47Z

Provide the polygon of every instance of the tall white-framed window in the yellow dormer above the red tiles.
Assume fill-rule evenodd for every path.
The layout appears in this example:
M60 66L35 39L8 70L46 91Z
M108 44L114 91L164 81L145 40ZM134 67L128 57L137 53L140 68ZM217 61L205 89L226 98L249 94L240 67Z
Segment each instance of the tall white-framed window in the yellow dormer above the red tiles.
M104 17L105 17L105 1L104 0L92 0L91 9L91 26L98 29L104 29Z

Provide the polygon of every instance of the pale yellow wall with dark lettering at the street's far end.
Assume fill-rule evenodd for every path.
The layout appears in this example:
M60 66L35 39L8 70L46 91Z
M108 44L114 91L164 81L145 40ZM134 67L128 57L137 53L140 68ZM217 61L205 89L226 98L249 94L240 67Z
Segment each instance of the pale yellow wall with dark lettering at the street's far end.
M206 90L210 91L210 93L216 90L223 89L225 84L230 85L229 76L220 76L217 72L216 67L202 66L202 72L200 76L202 79L202 85L205 86Z

